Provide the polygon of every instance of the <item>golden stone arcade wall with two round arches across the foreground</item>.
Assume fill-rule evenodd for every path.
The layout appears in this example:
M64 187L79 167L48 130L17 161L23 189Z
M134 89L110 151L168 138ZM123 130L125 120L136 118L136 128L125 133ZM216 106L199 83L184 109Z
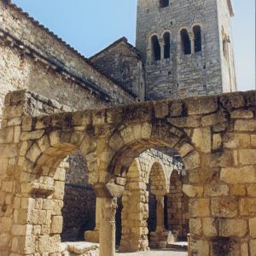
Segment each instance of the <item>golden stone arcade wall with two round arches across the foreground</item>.
M101 256L115 254L120 196L121 249L148 247L149 181L157 199L154 241L161 241L165 230L165 195L177 186L188 196L184 208L189 228L188 222L182 223L181 232L191 233L189 252L219 255L222 250L224 255L241 255L245 244L253 252L255 195L232 191L236 184L249 188L256 183L255 91L34 117L32 96L21 90L5 99L0 140L1 168L6 166L0 188L4 255L59 255L65 181L60 163L78 150L84 154L88 182L100 209L96 225ZM150 148L177 152L184 166L182 183L160 163L153 162L151 172L143 173L136 161Z

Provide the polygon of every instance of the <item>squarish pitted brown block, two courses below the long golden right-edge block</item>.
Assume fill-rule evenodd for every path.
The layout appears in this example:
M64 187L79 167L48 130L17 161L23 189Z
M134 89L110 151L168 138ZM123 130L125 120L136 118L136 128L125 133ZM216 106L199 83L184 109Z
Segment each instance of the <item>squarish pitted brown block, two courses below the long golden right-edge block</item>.
M212 215L214 217L234 218L238 213L236 197L212 198Z

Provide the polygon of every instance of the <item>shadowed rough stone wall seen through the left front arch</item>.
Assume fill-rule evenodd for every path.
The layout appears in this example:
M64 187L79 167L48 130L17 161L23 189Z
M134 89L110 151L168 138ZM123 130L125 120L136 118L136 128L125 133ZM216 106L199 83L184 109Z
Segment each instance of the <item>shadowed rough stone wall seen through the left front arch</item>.
M67 159L61 241L84 241L84 231L96 224L96 195L88 184L88 169L80 152Z

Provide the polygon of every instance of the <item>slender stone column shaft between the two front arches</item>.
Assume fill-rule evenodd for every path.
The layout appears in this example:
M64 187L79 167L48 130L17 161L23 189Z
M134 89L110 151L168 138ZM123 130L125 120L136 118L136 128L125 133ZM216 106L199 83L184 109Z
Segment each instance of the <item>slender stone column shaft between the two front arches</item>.
M115 212L117 199L102 198L102 222L100 227L100 256L115 255Z

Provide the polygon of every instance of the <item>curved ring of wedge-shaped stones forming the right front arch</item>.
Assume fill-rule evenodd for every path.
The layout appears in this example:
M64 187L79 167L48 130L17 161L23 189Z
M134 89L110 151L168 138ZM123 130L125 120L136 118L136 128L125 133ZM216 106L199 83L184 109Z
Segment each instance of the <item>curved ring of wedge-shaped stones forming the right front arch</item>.
M195 150L191 139L183 129L158 120L148 123L129 124L113 133L115 154L108 166L113 177L126 177L131 162L148 148L173 148L183 158L186 172L201 165L200 154Z

